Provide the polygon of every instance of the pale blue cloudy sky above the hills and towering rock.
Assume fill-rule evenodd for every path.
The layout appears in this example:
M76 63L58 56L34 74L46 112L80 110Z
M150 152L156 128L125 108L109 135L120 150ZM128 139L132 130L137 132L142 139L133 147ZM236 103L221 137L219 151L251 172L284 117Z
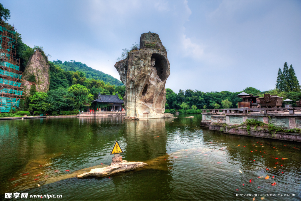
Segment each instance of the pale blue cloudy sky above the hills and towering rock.
M301 77L301 1L7 1L9 23L50 60L76 60L119 79L123 48L159 34L170 62L166 88L275 88L278 68Z

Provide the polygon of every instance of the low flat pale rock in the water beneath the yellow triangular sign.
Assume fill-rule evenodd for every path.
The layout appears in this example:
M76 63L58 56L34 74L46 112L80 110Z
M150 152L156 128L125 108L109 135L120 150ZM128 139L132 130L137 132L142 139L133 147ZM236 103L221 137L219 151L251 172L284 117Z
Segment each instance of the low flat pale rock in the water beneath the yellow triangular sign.
M112 175L118 172L125 172L129 170L133 170L136 168L141 168L144 165L147 165L147 163L144 162L119 162L119 163L113 163L112 165L109 165L104 168L95 168L90 170L90 172L85 172L81 175L77 175L77 178L84 178L84 177L103 177L107 175Z

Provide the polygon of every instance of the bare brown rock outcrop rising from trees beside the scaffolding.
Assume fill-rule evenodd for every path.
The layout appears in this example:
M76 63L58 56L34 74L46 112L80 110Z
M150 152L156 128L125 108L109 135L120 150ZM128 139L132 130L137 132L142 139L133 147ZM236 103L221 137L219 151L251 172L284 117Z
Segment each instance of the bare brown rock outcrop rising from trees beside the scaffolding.
M29 58L23 73L24 93L29 94L31 85L36 85L37 92L49 90L49 64L39 50L36 50Z

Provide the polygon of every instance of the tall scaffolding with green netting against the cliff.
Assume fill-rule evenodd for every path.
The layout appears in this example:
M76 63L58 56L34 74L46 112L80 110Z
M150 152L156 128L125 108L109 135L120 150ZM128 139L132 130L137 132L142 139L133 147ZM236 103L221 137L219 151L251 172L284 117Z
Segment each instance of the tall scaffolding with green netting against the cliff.
M16 55L17 32L13 26L0 23L0 113L14 112L22 96L19 59Z

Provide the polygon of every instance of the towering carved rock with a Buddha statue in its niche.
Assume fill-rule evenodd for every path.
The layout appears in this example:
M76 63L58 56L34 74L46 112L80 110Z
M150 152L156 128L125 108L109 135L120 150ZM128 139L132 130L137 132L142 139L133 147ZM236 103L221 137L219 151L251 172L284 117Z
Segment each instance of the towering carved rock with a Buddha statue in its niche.
M164 113L165 83L170 74L166 49L156 33L143 33L140 49L115 64L126 86L123 99L126 117L135 119L173 118Z

